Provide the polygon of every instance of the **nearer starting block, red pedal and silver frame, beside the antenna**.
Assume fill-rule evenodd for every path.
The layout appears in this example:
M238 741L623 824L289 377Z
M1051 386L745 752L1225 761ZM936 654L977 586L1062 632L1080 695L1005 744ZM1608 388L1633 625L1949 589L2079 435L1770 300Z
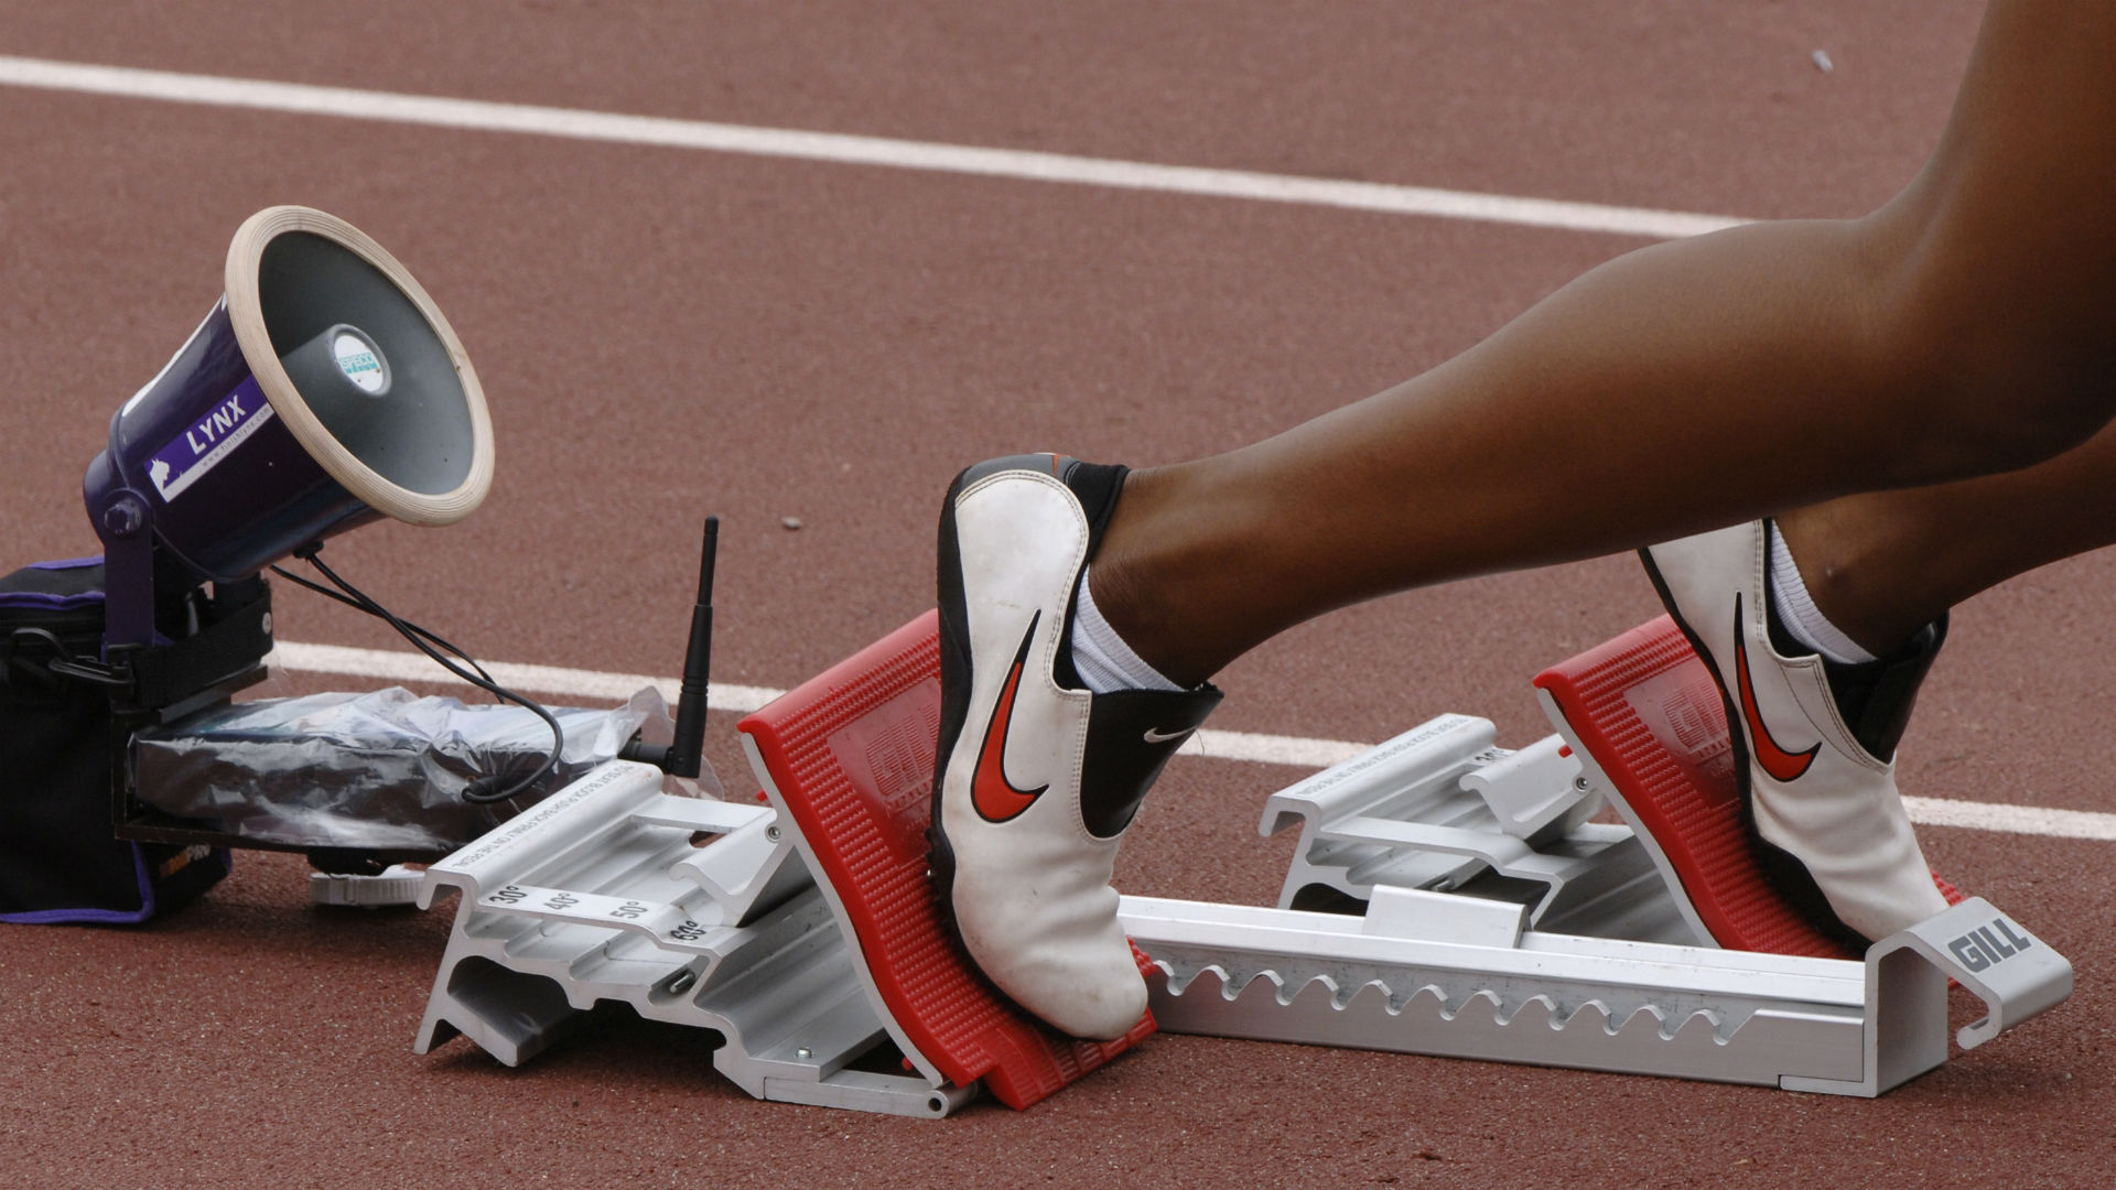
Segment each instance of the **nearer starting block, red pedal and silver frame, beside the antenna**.
M1028 1107L1153 1033L1054 1033L944 934L925 828L940 735L927 614L741 722L768 807L662 792L612 762L427 868L461 891L417 1050L508 1065L597 1002L722 1033L760 1099L946 1116Z

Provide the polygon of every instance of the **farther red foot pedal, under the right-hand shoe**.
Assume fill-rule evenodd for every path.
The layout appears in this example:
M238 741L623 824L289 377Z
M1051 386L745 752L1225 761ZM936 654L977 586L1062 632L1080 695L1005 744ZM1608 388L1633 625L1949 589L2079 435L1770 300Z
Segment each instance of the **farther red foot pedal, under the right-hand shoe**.
M1712 671L1661 616L1536 675L1551 722L1608 777L1684 917L1720 946L1856 959L1763 877L1741 824L1727 705ZM1947 902L1962 894L1934 877Z

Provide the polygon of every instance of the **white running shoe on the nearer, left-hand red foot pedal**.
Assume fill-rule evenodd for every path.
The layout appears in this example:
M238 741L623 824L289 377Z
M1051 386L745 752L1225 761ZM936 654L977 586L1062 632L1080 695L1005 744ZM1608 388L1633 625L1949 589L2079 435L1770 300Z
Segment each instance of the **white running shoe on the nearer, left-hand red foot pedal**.
M1147 985L1117 925L1117 841L1219 690L1088 692L1073 591L1126 468L1014 455L956 476L940 517L942 722L933 879L963 946L1075 1038L1138 1025Z

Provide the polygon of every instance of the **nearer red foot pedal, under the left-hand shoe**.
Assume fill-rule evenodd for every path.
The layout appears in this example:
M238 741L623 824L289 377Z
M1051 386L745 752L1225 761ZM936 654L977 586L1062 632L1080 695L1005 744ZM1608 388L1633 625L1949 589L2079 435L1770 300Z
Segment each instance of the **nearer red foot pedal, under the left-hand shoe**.
M906 1057L1009 1107L1064 1088L1153 1033L1064 1038L999 995L942 925L927 879L940 737L940 616L927 612L741 724L772 805L800 828L876 1012ZM1145 961L1141 957L1141 961Z

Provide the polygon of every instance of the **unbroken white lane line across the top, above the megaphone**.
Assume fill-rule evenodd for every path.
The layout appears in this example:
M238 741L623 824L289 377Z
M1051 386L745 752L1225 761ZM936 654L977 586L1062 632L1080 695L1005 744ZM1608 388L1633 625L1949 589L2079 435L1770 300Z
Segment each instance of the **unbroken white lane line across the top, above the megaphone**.
M1433 186L1392 186L1384 182L1346 182L1333 178L1257 174L1248 169L1204 169L1193 165L1153 165L1147 161L1028 152L1018 148L978 148L880 136L722 125L667 116L626 116L618 112L584 112L573 108L542 108L533 104L491 104L480 100L446 100L438 95L398 95L389 91L222 78L214 74L178 74L169 70L91 66L36 57L0 55L0 85L309 116L345 116L355 121L514 131L601 140L614 144L652 144L662 148L703 148L713 152L747 152L755 157L791 157L800 161L832 161L840 165L933 169L944 174L980 174L988 178L1117 186L1126 191L1162 191L1174 195L1253 199L1265 203L1303 203L1382 214L1507 222L1517 227L1606 231L1650 239L1701 235L1705 231L1720 231L1725 227L1746 222L1716 214L1568 203L1559 199L1524 199L1473 191L1441 191Z

